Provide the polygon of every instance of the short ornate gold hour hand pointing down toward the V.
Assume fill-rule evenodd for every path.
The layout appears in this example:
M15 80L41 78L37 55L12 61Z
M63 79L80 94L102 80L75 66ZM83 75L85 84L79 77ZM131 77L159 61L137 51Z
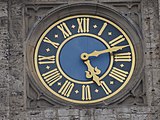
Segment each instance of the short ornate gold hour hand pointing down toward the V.
M101 70L99 70L97 67L92 67L90 60L84 61L84 63L87 65L88 68L88 71L85 71L86 78L93 78L93 81L96 82L98 86L100 86L100 78L97 75L101 73Z

